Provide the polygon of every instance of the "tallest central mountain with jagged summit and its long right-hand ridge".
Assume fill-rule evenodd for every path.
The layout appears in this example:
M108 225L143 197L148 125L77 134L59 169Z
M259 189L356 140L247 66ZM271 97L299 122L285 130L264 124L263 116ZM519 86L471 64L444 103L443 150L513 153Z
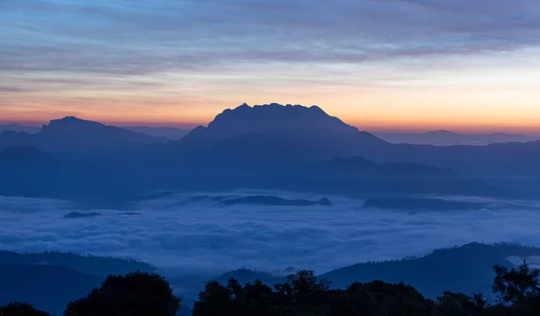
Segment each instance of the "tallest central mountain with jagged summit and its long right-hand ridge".
M445 132L446 133L446 132ZM540 142L492 145L390 144L318 107L267 104L225 110L172 144L179 166L212 175L288 173L336 157L416 163L476 176L540 175ZM518 163L516 163L518 162ZM202 167L202 165L204 167ZM412 165L409 165L412 167ZM390 166L387 166L390 167ZM399 166L394 166L399 167ZM400 168L398 168L400 169Z

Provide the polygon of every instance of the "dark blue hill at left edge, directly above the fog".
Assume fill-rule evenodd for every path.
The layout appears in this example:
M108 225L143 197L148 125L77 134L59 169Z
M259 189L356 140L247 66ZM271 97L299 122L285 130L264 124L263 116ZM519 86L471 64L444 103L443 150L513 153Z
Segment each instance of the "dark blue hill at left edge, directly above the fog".
M144 180L116 164L58 160L30 146L0 150L0 179L0 196L61 198L81 207L124 206Z

